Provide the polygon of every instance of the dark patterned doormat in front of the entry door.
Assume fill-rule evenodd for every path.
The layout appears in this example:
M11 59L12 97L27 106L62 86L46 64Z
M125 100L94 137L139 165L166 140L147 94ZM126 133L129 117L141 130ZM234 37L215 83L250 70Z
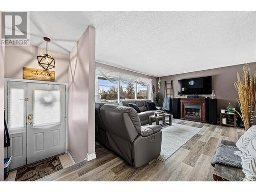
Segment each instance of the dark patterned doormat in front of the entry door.
M63 169L59 157L52 157L17 169L15 181L35 181Z

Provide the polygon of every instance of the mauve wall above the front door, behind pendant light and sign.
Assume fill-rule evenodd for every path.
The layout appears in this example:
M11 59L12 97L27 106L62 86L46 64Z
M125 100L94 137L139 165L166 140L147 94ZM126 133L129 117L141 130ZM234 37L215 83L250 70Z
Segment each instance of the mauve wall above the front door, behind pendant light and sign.
M42 69L37 55L45 54L46 49L34 46L7 46L5 50L5 78L23 79L23 67ZM48 50L55 59L55 82L68 82L69 53L62 54Z

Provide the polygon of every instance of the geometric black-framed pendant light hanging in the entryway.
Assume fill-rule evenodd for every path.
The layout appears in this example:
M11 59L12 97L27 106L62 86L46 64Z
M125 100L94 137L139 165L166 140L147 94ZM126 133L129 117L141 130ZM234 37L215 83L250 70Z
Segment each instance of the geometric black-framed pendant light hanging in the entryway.
M52 56L48 55L48 51L47 51L48 42L51 41L51 39L48 37L44 37L44 40L46 41L46 54L38 55L37 61L39 66L41 66L45 70L49 70L49 69L55 68L55 60Z

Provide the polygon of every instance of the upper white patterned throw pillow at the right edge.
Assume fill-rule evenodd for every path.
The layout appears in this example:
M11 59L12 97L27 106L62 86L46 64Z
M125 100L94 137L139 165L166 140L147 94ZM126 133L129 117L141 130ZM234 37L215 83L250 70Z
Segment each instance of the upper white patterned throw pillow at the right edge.
M247 145L250 143L250 141L256 137L256 125L250 127L238 140L236 143L239 150L244 153L244 151L247 148Z

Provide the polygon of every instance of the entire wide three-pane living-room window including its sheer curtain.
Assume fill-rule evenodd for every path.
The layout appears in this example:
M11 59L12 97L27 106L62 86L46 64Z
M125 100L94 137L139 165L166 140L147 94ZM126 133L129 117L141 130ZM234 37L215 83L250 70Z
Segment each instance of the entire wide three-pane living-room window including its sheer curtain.
M96 68L95 101L120 103L121 99L151 99L152 79Z

